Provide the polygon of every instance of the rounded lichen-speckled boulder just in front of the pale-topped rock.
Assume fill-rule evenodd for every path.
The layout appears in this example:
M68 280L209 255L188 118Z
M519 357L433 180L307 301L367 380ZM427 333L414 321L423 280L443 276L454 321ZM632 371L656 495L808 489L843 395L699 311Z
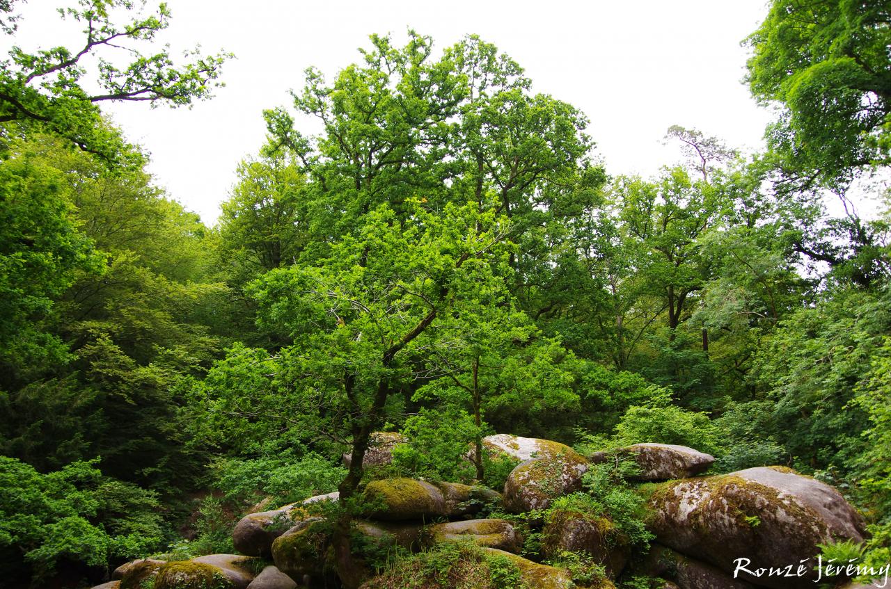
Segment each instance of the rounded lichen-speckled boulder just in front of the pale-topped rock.
M554 456L520 463L504 484L504 506L509 512L547 509L559 496L582 488L588 461L572 448Z

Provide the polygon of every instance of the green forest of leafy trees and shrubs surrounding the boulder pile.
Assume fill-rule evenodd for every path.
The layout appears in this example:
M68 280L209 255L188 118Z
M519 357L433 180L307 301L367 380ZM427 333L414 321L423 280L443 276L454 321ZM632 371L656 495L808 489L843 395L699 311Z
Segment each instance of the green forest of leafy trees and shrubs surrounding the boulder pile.
M372 34L270 97L213 226L101 106L212 100L231 56L156 43L164 4L71 4L83 51L15 47L0 70L0 585L236 553L246 514L338 491L315 546L337 564L297 584L558 586L466 545L356 536L381 481L501 491L519 460L494 434L606 453L554 505L631 545L658 536L641 497L659 491L620 449L671 444L709 475L827 483L865 531L823 554L891 563L891 4L772 0L743 41L766 149L676 125L683 164L653 177L610 173L586 133L602 114L533 93L484 38ZM0 0L0 35L18 8ZM608 581L543 553L554 513L492 509L572 573L561 587L677 586Z

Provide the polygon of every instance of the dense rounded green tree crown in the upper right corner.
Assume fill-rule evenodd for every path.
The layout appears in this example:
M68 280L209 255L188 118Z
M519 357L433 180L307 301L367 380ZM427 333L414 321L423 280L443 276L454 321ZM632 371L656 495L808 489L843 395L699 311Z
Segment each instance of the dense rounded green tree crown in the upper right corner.
M891 161L889 19L884 1L774 0L746 40L752 93L780 106L767 136L787 177L844 186Z

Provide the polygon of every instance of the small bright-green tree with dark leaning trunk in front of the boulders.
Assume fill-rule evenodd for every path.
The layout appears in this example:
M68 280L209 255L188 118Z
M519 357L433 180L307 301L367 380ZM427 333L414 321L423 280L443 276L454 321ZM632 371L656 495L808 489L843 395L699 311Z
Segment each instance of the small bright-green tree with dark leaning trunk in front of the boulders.
M443 322L472 324L507 301L506 220L472 203L448 205L443 214L420 202L413 207L399 222L380 206L365 216L356 238L332 247L331 258L272 270L254 288L261 320L286 329L293 342L281 353L295 393L350 441L351 462L339 485L347 507L356 504L372 432L399 407L400 392L440 376L425 359L457 345ZM361 575L349 561L349 521L346 511L334 537L347 585Z

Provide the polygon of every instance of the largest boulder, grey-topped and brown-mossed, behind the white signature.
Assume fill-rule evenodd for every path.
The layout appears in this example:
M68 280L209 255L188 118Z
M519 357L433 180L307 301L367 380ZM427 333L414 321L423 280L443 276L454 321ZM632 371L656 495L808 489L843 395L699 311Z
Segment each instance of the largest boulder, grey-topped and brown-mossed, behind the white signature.
M756 585L813 587L818 544L863 539L863 520L834 488L782 467L759 467L649 489L647 524L661 544L732 574L802 564L801 577L750 576ZM745 565L744 565L745 566Z

